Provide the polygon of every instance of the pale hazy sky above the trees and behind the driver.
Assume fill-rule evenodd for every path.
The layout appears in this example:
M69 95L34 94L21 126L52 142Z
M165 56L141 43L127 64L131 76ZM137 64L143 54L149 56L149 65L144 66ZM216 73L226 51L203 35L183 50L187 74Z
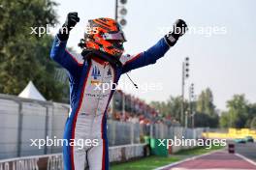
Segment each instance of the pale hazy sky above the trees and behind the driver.
M55 1L59 3L56 12L61 24L69 12L79 13L80 22L68 42L78 52L77 44L88 19L114 17L115 0ZM255 0L128 0L125 53L146 50L172 28L177 18L185 20L195 31L180 38L155 65L131 71L129 74L139 89L131 87L124 91L147 102L180 95L181 65L188 56L190 77L185 82L186 98L188 86L194 83L195 95L210 88L214 103L221 110L226 109L226 100L234 94L244 94L250 102L256 102L255 7ZM59 27L60 24L56 25L52 34ZM213 29L218 30L213 32ZM131 85L125 75L119 82Z

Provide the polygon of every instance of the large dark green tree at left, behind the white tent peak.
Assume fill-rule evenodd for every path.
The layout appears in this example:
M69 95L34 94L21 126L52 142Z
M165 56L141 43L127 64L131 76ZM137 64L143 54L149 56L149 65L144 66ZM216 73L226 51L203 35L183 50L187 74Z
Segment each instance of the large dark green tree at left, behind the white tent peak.
M65 84L54 79L49 60L52 38L31 27L57 22L51 0L2 0L0 8L0 93L17 95L32 80L47 99L60 100Z

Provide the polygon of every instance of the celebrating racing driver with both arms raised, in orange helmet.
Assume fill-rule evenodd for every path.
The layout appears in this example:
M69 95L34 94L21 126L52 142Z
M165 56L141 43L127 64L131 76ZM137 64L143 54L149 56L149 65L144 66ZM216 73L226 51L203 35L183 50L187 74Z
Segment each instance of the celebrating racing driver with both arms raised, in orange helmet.
M109 149L106 110L114 88L101 91L95 87L103 83L116 84L123 73L155 64L176 44L187 26L183 20L178 19L172 32L144 52L122 55L123 42L126 40L119 24L112 18L92 19L88 21L84 39L79 44L82 51L80 55L74 55L67 50L66 44L70 31L79 21L78 13L67 15L53 41L50 58L69 73L71 111L64 139L90 139L93 142L82 149L70 143L64 145L64 169L107 170Z

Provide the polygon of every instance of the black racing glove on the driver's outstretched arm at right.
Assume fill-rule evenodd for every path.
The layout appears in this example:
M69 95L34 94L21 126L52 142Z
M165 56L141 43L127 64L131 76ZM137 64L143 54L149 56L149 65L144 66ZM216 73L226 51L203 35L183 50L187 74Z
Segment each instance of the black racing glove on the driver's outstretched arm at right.
M168 42L170 46L174 46L178 38L183 36L187 29L188 28L186 22L182 19L177 19L176 23L174 24L173 31L165 35L166 42Z

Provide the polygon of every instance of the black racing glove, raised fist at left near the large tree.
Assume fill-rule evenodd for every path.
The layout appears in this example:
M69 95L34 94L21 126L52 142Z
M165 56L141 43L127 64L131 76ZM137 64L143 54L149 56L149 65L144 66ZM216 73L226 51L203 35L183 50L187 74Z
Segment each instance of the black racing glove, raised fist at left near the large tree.
M80 21L78 13L69 13L67 15L65 23L62 25L58 32L58 38L60 41L67 41L69 39L70 31Z

